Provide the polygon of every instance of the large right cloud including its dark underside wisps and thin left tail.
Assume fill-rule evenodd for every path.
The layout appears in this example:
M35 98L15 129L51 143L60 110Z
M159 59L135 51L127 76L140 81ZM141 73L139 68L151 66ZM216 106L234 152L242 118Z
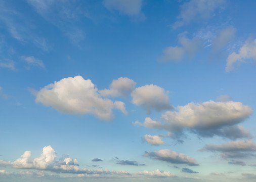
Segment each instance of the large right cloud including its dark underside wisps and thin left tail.
M249 130L236 125L252 113L251 107L244 106L240 102L209 101L197 104L192 102L177 107L177 110L162 114L161 120L164 124L147 117L141 125L167 130L173 138L179 138L184 134L184 130L204 137L219 135L231 140L252 137Z

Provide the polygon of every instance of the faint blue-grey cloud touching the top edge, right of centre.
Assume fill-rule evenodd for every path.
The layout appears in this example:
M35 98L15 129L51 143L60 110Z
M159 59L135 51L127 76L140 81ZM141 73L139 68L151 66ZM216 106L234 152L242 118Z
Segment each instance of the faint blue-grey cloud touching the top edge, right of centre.
M181 27L192 21L207 20L214 15L214 12L225 4L225 0L190 0L181 5L180 15L177 17L173 28Z

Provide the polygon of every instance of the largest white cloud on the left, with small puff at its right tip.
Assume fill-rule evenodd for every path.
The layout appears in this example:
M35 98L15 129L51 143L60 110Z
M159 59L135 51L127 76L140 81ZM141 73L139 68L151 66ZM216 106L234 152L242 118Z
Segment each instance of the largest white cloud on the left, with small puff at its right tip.
M52 106L67 114L93 114L100 119L113 118L112 110L120 109L126 113L124 104L103 99L90 79L81 76L63 78L40 89L36 103Z

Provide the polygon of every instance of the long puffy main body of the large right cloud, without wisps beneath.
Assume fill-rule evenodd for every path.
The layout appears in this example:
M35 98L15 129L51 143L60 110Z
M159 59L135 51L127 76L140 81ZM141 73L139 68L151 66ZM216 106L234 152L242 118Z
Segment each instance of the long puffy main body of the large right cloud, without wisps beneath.
M166 111L162 114L165 126L174 130L192 128L198 130L214 129L242 122L251 113L249 106L240 102L204 102L178 106L178 112ZM189 121L189 122L188 122Z

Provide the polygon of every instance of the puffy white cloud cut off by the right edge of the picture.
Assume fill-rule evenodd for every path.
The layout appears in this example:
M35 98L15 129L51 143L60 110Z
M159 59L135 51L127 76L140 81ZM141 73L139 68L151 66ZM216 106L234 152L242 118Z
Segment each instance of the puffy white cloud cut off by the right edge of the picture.
M231 53L227 59L226 72L234 70L234 65L237 62L245 62L247 59L256 60L256 39L248 39L239 49L238 53Z

